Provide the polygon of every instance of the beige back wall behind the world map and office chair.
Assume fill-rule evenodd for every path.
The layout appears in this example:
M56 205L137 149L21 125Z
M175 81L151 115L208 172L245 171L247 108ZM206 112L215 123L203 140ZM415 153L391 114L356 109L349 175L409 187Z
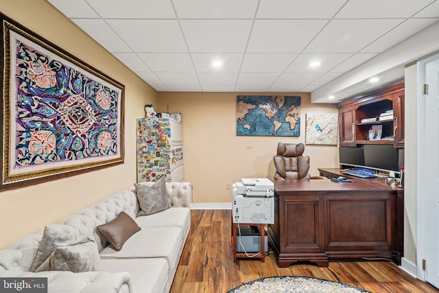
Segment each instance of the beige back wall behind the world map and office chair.
M237 95L300 95L300 137L237 137ZM158 93L158 112L182 113L185 180L195 203L231 202L226 183L241 178L272 178L278 142L305 143L305 113L337 113L334 104L311 104L309 93ZM248 149L251 145L252 149ZM305 145L311 175L337 167L336 145Z

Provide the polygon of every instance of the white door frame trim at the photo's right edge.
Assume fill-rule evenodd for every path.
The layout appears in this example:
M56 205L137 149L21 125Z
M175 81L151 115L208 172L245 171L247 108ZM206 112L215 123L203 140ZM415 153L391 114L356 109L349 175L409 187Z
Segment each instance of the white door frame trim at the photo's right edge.
M422 281L426 281L426 273L423 270L423 259L426 259L426 237L429 231L426 230L427 217L425 215L425 209L427 207L427 200L424 194L427 193L427 174L425 174L425 166L427 163L427 156L425 155L425 146L427 143L427 137L425 132L425 126L427 121L425 121L426 113L426 102L425 95L423 93L423 84L426 83L425 76L425 65L432 61L439 59L439 54L430 56L418 62L417 66L417 89L416 89L416 100L417 100L417 125L416 125L416 277Z

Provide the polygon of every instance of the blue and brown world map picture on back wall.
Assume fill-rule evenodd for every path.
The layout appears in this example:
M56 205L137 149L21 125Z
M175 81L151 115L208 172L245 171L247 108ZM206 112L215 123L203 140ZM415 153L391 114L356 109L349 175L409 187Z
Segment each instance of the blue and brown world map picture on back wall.
M238 136L299 137L300 97L238 95Z

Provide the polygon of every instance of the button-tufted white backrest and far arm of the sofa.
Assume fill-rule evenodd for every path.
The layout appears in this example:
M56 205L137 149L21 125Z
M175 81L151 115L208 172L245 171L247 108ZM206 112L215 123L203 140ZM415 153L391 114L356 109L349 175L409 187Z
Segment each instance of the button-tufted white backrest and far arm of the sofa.
M154 183L141 184L154 185ZM166 189L172 207L190 207L190 183L167 182ZM96 227L110 222L121 211L125 211L134 219L136 218L137 212L139 212L139 202L137 201L134 185L92 204L91 207L69 215L62 224L57 225L67 233L86 235L91 239L95 239L100 252L104 247L99 235L95 233ZM8 248L0 250L0 273L10 270L28 272L34 262L42 237L43 233L27 235L8 246Z

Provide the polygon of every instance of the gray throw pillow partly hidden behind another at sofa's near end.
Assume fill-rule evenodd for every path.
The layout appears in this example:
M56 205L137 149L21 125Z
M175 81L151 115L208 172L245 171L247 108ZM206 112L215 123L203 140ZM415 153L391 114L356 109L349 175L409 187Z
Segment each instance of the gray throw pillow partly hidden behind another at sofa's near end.
M57 248L86 244L88 242L91 242L91 244L95 246L94 250L97 253L97 246L93 239L83 235L66 233L60 224L46 226L43 233L43 239L41 239L40 245L38 246L38 251L30 271L39 272L43 270L43 268L40 269L40 266L51 257ZM94 253L94 251L92 253ZM47 265L45 265L45 268L47 268Z

